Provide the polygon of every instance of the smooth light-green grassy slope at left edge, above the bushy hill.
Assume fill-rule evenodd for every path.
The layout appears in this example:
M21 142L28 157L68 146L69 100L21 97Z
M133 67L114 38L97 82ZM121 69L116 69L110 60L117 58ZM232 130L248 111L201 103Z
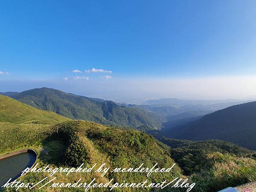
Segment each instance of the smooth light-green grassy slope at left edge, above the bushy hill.
M55 124L65 120L68 118L0 95L0 122Z

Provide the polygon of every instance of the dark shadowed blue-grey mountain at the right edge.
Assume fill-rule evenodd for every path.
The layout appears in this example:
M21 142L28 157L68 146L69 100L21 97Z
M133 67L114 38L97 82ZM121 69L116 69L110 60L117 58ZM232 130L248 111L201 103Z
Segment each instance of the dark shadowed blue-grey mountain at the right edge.
M194 122L170 128L162 134L185 140L224 140L256 150L256 102L210 113Z

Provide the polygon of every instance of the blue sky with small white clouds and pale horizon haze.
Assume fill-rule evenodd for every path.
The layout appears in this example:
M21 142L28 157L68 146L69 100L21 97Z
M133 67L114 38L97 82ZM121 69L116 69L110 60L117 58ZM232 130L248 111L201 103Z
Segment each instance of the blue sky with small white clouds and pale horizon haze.
M256 1L0 2L0 92L256 95Z

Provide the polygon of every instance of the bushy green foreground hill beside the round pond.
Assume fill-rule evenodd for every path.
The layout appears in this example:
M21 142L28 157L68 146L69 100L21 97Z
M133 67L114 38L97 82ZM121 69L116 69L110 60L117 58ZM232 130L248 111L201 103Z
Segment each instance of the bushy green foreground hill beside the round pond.
M159 168L171 167L175 162L168 151L160 147L157 140L143 132L129 129L118 129L106 127L93 122L67 121L56 125L15 125L12 123L0 123L0 153L4 154L18 148L30 147L44 148L47 154L39 152L38 163L41 166L54 164L56 167L84 166L90 167L97 163L96 168L102 163L111 170L116 167L136 168L144 163L144 167L153 167L158 163ZM12 137L6 137L6 135ZM8 138L8 139L7 139ZM38 182L47 173L27 174L22 180L27 182ZM57 173L55 182L75 183L79 178L83 182L107 183L111 178L113 183L126 182L139 183L144 180L148 182L160 182L171 180L177 176L182 177L180 168L176 165L171 173L154 173L146 177L145 173L111 173L101 177L97 173L77 173L68 176ZM35 189L36 190L36 189ZM52 190L44 188L44 190ZM67 189L70 191L71 189ZM84 191L74 189L73 191ZM148 189L150 190L150 189ZM71 190L72 191L72 190ZM106 191L99 189L98 191ZM114 191L131 191L131 189L116 189ZM138 190L139 191L139 190ZM145 191L145 190L143 190Z

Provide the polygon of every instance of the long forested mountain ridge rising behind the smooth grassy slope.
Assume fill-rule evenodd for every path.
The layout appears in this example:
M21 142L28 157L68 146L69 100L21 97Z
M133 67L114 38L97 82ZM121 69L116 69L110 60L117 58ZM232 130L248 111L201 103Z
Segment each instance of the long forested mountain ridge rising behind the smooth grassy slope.
M82 119L100 124L137 128L148 125L161 128L163 117L139 108L117 105L112 101L76 96L60 90L40 88L23 91L12 96L32 107L52 111L71 119Z

